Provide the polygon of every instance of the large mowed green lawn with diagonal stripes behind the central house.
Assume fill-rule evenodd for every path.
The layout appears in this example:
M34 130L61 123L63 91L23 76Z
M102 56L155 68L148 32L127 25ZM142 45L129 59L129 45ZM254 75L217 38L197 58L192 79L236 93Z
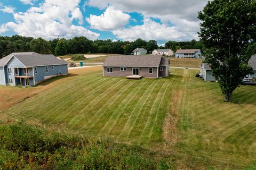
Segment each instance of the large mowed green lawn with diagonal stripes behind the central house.
M196 70L141 80L102 77L101 67L78 70L1 114L141 146L178 168L240 168L256 160L256 87L239 87L230 104L218 83L195 78Z

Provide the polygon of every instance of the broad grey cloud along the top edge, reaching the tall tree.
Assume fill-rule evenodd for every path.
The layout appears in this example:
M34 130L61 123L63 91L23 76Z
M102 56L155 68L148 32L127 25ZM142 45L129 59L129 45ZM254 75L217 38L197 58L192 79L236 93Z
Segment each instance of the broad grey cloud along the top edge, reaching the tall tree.
M207 1L208 0L89 0L86 5L95 6L100 9L114 6L116 9L123 12L138 12L145 18L157 18L164 23L166 28L169 28L170 25L174 26L178 33L191 36L185 38L193 39L197 37L195 35L199 31L199 20L197 19L198 11L203 10ZM169 27L167 27L167 25L169 25ZM149 25L145 24L145 27L147 26ZM161 32L157 33L161 35Z

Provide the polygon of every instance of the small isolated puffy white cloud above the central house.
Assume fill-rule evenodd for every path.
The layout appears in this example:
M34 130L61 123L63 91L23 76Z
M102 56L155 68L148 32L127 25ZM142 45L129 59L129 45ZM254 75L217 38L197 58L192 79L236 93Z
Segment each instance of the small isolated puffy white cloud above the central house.
M123 28L129 19L129 14L125 14L120 10L116 10L113 6L109 6L103 14L99 16L91 14L89 18L86 18L86 21L90 23L93 29L108 31Z

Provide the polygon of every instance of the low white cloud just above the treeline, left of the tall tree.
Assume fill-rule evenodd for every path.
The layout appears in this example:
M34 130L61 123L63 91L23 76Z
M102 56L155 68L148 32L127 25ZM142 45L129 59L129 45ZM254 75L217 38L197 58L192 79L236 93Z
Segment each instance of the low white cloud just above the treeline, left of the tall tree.
M179 32L177 27L168 27L165 24L160 24L145 18L143 25L135 25L130 28L124 28L112 31L113 34L120 39L133 41L137 38L145 40L189 40L190 37L196 38L197 35ZM198 39L198 38L196 38Z

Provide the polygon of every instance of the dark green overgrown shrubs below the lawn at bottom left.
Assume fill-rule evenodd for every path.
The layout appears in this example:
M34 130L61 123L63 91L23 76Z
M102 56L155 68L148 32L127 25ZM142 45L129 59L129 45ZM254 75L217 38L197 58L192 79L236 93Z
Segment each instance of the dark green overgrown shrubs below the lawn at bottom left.
M0 169L167 169L109 141L56 132L24 122L0 126Z

